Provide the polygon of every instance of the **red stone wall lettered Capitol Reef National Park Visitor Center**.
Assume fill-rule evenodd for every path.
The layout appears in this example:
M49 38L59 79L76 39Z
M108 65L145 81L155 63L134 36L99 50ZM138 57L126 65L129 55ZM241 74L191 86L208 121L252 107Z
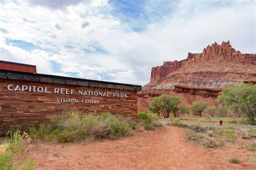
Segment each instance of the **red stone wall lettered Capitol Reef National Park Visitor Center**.
M38 77L38 81L26 81L25 75L22 75L23 80L17 75L14 80L10 79L14 74L5 74L6 77L1 77L0 73L0 134L15 125L49 122L70 108L84 113L111 112L137 118L139 86L90 81L82 83L76 79L69 80L76 84L72 85L67 84L69 81L63 77L58 81L64 79L65 84L54 82L54 77L45 77L51 79L52 83L42 82L42 76L33 74L31 76Z

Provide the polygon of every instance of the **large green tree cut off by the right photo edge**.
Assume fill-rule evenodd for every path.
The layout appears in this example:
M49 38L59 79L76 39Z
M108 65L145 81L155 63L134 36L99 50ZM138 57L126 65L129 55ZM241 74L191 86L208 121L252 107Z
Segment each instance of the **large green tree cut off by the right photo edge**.
M255 121L256 86L241 83L238 86L223 89L217 102L224 104L236 116L246 115L250 121Z

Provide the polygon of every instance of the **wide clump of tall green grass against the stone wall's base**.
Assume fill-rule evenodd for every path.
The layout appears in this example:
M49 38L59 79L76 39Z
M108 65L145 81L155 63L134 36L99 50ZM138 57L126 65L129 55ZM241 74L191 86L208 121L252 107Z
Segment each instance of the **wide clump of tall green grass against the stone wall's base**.
M130 136L132 128L129 122L110 113L101 115L85 114L68 111L50 125L41 124L30 130L31 137L44 141L76 142L96 138L114 138Z

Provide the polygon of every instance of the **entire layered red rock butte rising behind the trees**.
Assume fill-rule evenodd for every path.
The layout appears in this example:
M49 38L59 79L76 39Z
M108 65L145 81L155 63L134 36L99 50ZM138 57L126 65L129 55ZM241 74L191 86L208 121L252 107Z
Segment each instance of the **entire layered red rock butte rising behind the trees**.
M138 94L138 110L144 111L153 97L178 96L183 104L194 100L214 105L221 89L241 82L256 82L256 54L242 54L230 41L208 45L201 53L188 53L180 61L153 67L151 81Z

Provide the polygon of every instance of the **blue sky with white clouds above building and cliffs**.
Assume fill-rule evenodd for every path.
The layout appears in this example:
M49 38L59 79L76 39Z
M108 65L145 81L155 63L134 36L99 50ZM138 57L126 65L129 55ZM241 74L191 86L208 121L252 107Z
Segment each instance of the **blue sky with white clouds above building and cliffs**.
M230 40L255 53L255 1L0 1L0 60L145 84L151 68Z

